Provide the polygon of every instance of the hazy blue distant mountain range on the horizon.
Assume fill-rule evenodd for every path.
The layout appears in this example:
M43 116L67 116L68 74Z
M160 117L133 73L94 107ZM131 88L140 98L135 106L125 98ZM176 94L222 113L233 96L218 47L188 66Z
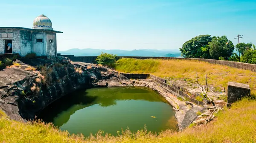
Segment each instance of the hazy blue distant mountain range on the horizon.
M168 56L180 57L179 50L104 50L104 49L69 49L66 51L58 51L61 55L75 55L75 56L99 56L101 53L116 54L117 56Z

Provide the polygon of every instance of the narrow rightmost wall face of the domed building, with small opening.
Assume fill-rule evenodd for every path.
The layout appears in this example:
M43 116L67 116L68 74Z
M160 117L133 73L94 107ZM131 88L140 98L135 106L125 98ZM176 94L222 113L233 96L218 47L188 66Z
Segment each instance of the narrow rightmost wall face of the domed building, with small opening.
M52 40L52 42L50 42ZM56 56L57 55L57 39L56 33L47 33L46 34L46 43L47 43L47 56Z

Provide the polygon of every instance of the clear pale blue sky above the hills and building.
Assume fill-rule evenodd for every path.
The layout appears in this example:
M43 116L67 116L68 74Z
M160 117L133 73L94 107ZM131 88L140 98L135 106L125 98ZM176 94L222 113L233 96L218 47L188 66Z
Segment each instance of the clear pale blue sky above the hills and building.
M32 28L44 14L58 50L178 50L201 34L256 44L256 0L1 0L0 27Z

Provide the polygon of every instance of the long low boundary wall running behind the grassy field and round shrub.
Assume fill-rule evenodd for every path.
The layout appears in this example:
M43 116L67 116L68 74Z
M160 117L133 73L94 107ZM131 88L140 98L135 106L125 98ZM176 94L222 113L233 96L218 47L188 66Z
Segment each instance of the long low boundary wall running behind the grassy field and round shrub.
M74 55L61 55L58 54L58 56L65 56L70 58L73 62L87 62L87 63L93 63L96 64L96 58L97 56L74 56ZM196 61L202 61L202 62L209 62L211 64L220 64L220 65L226 65L229 67L235 67L239 69L244 70L251 70L253 72L256 72L256 64L247 64L242 62L231 62L231 61L221 61L221 60L215 60L215 59L196 59L196 58L177 58L177 57L153 57L153 56L117 56L117 59L120 58L135 58L135 59L180 59L180 60L196 60Z

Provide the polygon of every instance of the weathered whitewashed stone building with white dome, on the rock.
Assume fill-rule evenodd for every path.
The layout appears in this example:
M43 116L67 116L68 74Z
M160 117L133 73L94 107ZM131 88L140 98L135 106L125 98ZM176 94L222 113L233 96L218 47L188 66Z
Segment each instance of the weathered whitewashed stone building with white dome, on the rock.
M48 58L56 56L56 34L62 32L54 31L51 20L44 14L36 17L33 25L33 28L0 27L0 54L18 53L26 56L28 53L36 53L36 56ZM12 46L8 46L9 43Z

